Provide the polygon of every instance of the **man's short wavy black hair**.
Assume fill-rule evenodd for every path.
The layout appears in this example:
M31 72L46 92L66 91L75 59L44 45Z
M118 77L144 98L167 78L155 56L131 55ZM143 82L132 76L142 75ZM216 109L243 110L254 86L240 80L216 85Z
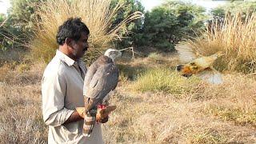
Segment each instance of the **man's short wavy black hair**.
M86 24L81 21L81 18L68 18L62 26L58 27L56 39L59 45L63 45L66 38L72 38L75 41L78 41L78 39L81 38L82 32L85 32L88 35L90 34L90 30Z

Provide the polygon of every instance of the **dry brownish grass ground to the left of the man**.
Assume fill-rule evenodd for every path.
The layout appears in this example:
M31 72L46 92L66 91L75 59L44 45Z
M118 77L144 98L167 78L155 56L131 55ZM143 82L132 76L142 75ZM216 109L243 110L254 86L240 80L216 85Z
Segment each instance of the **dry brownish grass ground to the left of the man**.
M42 121L41 77L45 65L30 70L5 64L0 67L0 143L46 142Z

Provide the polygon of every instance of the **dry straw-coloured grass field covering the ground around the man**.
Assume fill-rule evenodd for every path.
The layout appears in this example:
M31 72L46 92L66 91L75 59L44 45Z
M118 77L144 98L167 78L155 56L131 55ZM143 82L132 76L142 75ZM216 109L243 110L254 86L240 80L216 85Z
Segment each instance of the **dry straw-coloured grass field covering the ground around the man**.
M169 77L177 63L173 54L118 62L121 81L111 98L118 109L102 126L106 143L256 142L254 77L224 74L221 85ZM0 143L46 143L40 86L45 66L37 63L0 67ZM170 87L166 91L161 86L155 89L154 83L149 84L151 89L143 89L142 79L150 78L147 71L156 69L159 74L166 74L160 79L164 81L162 87L170 86L171 81L174 90ZM158 77L152 77L150 82L156 82L154 78ZM182 82L175 83L176 80ZM138 86L143 90L134 89ZM177 91L177 87L184 90Z

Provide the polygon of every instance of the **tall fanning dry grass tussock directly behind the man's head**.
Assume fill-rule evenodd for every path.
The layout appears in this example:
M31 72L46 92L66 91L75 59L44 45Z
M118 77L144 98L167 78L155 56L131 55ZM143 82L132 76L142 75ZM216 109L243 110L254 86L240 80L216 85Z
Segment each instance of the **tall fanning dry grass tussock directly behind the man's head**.
M111 0L47 0L42 2L35 10L39 18L34 20L38 24L34 30L36 37L31 39L29 46L32 58L50 61L58 48L55 40L58 26L70 17L82 18L90 30L90 50L86 53L86 61L91 62L97 58L98 54L109 47L112 41L121 38L118 32L126 30L127 23L141 17L139 12L130 14L118 26L110 30L114 15L122 6L120 3L110 9L110 2Z

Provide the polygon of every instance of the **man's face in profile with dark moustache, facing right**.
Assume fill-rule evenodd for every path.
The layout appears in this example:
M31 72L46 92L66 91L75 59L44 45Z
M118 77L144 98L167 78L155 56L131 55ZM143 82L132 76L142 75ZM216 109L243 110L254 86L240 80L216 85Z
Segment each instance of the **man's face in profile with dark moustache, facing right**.
M86 50L88 50L88 34L82 33L81 38L78 39L78 41L72 40L72 54L75 59L82 58L83 55L86 53Z

